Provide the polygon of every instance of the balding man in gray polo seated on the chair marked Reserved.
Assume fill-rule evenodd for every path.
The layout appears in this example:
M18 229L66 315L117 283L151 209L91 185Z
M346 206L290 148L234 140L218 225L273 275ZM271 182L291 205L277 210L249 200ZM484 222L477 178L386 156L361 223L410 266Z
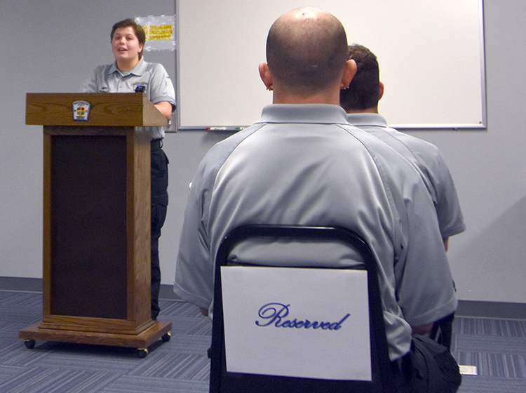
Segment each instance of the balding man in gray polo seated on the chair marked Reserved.
M448 391L448 384L454 392L460 375L449 353L452 376L432 368L434 358L414 358L420 341L412 331L429 331L457 307L433 202L407 160L346 120L339 90L355 72L344 27L330 13L299 8L274 22L267 62L259 65L273 104L201 161L184 214L174 291L211 314L217 248L241 225L349 228L378 261L396 383L424 392L433 378L442 384L436 392ZM427 375L429 367L436 373Z

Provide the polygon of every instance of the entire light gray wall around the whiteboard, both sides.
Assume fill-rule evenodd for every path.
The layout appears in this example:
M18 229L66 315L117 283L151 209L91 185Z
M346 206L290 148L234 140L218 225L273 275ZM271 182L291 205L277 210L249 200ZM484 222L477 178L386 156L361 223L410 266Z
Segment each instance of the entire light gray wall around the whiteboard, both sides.
M102 0L10 3L0 13L0 276L42 277L42 138L41 128L24 125L25 93L75 91L95 65L112 61L113 22L174 8L168 0L128 1L125 11ZM451 239L449 254L462 300L526 303L525 13L522 0L485 1L487 131L412 131L440 148L457 184L468 230ZM173 72L168 55L146 58ZM173 282L188 184L205 152L225 136L188 131L166 138L163 284Z

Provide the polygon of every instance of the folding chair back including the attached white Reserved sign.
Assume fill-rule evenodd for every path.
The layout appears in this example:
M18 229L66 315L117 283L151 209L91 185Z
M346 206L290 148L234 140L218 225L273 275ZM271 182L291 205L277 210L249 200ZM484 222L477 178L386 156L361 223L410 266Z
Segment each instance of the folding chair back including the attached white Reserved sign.
M313 261L312 244L348 252ZM230 232L215 265L210 392L391 392L376 264L349 229Z

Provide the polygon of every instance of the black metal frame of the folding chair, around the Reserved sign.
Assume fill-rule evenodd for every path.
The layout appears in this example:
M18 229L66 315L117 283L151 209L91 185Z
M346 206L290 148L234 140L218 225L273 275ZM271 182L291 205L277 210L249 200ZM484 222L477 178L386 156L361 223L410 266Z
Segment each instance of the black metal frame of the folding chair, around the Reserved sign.
M365 299L368 300L368 315L367 310L365 310L365 314L366 318L368 318L369 331L365 333L368 333L370 342L369 347L366 348L370 349L370 378L367 378L370 380L362 380L361 378L351 380L309 378L308 376L295 377L290 375L279 375L280 373L269 375L268 373L258 373L257 371L229 371L227 368L227 350L225 345L224 299L222 290L222 285L224 285L224 283L222 282L222 267L231 267L234 265L247 267L261 267L262 265L276 266L273 263L273 260L276 258L272 256L269 260L269 258L267 258L267 252L262 251L265 248L258 248L259 255L262 258L257 258L257 255L256 257L252 255L251 260L239 261L237 260L237 256L232 256L233 254L236 254L235 250L238 246L246 244L247 241L255 241L255 239L257 239L257 241L262 241L262 239L264 239L262 243L265 248L273 248L273 244L275 244L276 241L283 241L284 239L285 244L287 241L300 241L305 244L308 244L311 241L328 242L329 244L344 244L352 251L350 255L360 255L358 263L355 262L350 265L339 265L336 263L332 268L352 269L355 271L356 269L365 269L365 272L367 272L365 279L366 285L364 286L364 288L367 288L365 290L367 291L367 294L364 296ZM314 275L316 275L317 272L320 272L317 269L326 269L326 264L313 267L311 262L304 263L302 260L297 260L292 262L292 264L294 265L293 268L307 268L309 269L309 274ZM231 300L232 299L229 298L229 302L231 302ZM245 299L243 296L238 296L234 298L234 302L236 302L236 304L232 307L234 307L234 309L240 307L241 310L241 307L245 303ZM225 303L225 306L226 305L227 304ZM228 306L230 307L231 305L229 304ZM226 309L227 307L225 307L225 310ZM332 327L334 326L336 325L332 324ZM367 326L367 322L364 326ZM324 328L330 328L330 326L327 324ZM367 328L365 328L365 330L367 330ZM276 354L278 354L277 352L279 351L276 351ZM255 353L254 355L259 356L259 353ZM224 237L215 262L213 335L212 346L209 349L209 357L211 359L210 392L213 393L393 392L393 375L391 371L391 361L389 361L377 279L377 262L370 251L369 246L358 234L349 229L337 227L248 225L234 229ZM297 360L298 366L301 368L304 359L295 360ZM268 359L269 364L272 364L274 361L275 359L273 358ZM326 359L324 362L327 363ZM249 364L250 360L246 361L246 363Z

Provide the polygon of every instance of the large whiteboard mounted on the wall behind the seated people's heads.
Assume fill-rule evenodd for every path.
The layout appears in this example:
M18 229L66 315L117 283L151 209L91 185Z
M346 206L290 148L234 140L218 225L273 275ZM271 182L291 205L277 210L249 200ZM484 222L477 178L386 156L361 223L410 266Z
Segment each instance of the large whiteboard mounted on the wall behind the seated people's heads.
M272 23L304 1L177 1L177 128L249 126ZM397 128L485 128L483 0L310 1L377 55L379 112Z

